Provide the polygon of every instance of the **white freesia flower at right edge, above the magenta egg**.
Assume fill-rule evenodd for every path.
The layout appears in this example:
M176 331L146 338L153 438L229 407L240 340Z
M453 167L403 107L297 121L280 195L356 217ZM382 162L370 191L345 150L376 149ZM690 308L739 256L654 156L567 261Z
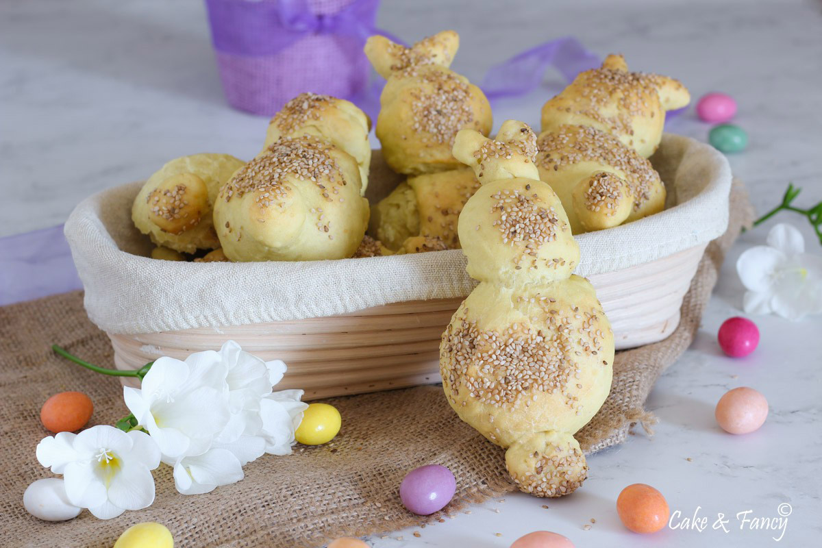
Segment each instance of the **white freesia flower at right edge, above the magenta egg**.
M822 256L806 253L801 233L790 224L771 228L767 244L751 247L737 260L737 273L748 290L745 311L788 320L822 312Z

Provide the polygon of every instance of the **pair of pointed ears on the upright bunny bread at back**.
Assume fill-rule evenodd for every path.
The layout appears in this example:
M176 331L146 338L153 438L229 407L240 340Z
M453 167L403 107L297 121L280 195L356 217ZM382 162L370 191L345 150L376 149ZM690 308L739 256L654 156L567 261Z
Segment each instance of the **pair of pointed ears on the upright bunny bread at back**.
M406 48L395 44L385 36L367 39L365 54L377 73L388 78L395 71L404 71L418 65L439 65L448 68L459 48L459 35L453 30L443 30Z

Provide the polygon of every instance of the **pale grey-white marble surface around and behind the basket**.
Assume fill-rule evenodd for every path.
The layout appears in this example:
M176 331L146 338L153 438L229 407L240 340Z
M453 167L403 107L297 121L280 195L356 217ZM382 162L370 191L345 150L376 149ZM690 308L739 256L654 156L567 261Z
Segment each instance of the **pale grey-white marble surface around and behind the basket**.
M822 2L386 0L378 23L409 41L458 30L455 68L473 81L539 41L575 35L603 55L625 53L633 68L677 76L696 97L730 93L739 103L737 123L750 135L748 150L730 160L757 210L777 203L787 182L805 188L801 205L822 199ZM543 91L497 104L496 125L506 117L536 124L545 99ZM147 177L175 156L247 158L266 123L224 104L199 0L0 3L0 236L62 223L83 197ZM687 113L668 129L704 140L709 127ZM804 220L781 219L797 223L809 247L822 252ZM732 250L695 344L649 399L660 419L653 438L638 429L628 443L589 458L589 480L566 499L508 495L446 523L386 532L369 543L504 548L547 529L580 547L818 544L822 318L756 318L762 342L742 360L723 357L715 339L722 321L740 313L736 256L763 242L777 220L746 233ZM769 420L755 434L726 435L713 406L741 385L769 398ZM707 529L626 532L614 504L635 482L662 490L682 518L699 508ZM781 531L740 529L737 513L776 518L780 504L792 509L781 541L773 539ZM712 528L717 513L729 518L727 532ZM584 529L591 518L596 523Z

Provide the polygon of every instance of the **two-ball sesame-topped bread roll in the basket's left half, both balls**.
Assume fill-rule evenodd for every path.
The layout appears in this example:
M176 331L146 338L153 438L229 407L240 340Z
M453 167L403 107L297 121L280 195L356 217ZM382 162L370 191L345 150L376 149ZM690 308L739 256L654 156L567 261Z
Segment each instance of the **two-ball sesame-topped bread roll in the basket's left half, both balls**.
M219 191L214 222L229 260L344 259L363 241L367 117L324 96L289 105L269 127L271 144Z

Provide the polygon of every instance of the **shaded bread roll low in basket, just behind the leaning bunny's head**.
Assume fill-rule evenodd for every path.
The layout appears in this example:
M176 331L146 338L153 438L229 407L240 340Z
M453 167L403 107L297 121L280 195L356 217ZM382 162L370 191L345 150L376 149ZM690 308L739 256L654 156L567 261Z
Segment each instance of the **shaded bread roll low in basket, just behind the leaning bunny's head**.
M415 249L418 240L404 244L417 237L436 238L444 249L458 249L459 212L478 188L471 168L409 177L372 207L368 231L395 251ZM432 251L429 247L421 249Z

